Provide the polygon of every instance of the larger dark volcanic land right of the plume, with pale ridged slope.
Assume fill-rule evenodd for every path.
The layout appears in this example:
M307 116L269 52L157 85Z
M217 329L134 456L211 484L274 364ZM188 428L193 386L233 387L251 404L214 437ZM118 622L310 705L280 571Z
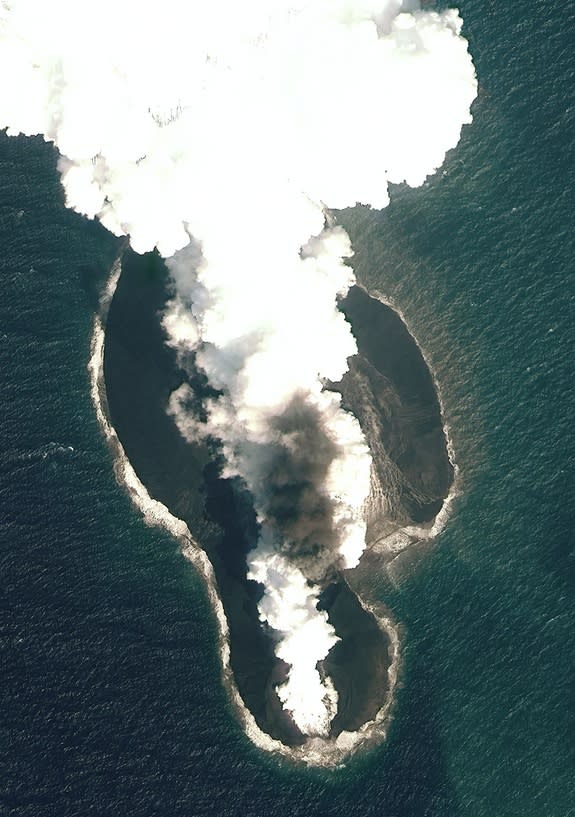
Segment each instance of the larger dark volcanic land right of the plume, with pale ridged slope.
M441 407L421 350L391 307L359 286L340 309L359 354L333 386L360 421L398 524L430 522L453 483Z

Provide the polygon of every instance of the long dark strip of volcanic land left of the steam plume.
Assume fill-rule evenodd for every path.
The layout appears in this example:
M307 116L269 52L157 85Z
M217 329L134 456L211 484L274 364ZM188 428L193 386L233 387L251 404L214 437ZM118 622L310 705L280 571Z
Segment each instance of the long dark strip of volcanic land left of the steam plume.
M159 314L167 273L159 258L127 252L106 324L104 376L112 423L151 496L183 519L214 566L230 628L230 661L257 723L288 744L303 737L282 709L274 684L285 675L258 620L259 589L246 580L255 518L248 498L218 476L205 446L183 440L166 413L184 379L165 343Z

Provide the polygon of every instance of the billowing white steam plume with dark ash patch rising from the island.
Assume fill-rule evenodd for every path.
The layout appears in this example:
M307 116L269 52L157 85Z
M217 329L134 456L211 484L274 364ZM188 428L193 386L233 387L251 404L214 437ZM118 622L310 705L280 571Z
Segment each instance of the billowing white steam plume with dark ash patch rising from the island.
M385 207L389 182L439 167L476 94L460 29L405 0L0 5L0 127L54 141L70 207L173 256L165 327L221 396L207 423L186 387L171 410L254 497L250 575L307 734L337 698L316 666L335 638L319 586L362 552L371 462L322 390L355 352L336 309L351 248L324 205Z

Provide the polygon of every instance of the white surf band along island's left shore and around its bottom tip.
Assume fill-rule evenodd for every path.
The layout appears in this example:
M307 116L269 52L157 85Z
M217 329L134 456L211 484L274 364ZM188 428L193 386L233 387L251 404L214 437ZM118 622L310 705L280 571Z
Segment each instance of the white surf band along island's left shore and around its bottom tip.
M146 487L139 480L128 460L123 446L112 425L106 397L104 379L104 345L106 318L111 300L122 271L120 255L110 273L106 288L100 300L100 310L94 317L90 360L90 389L96 417L114 457L114 473L119 484L128 492L132 502L142 513L148 525L162 527L171 533L180 543L183 555L203 576L208 589L208 597L216 617L219 634L219 656L222 667L222 679L228 692L232 707L244 732L260 749L281 755L286 759L310 766L337 767L345 763L351 754L368 746L380 743L385 739L392 715L400 666L400 643L398 626L387 614L382 614L372 606L359 599L362 606L375 617L382 631L389 639L388 692L384 705L375 718L365 723L355 732L342 732L336 739L309 738L302 746L289 747L263 732L253 715L245 706L236 686L230 665L229 628L224 608L217 590L216 577L212 564L205 551L196 542L188 526L182 519L170 513L168 508L153 499Z

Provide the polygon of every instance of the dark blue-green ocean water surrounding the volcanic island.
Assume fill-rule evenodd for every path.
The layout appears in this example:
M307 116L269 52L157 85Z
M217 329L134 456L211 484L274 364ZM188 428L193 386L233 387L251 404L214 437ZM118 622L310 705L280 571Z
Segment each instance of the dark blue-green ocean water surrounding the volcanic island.
M202 582L116 483L90 400L117 241L65 209L49 146L0 138L0 814L575 815L575 8L460 8L473 125L423 188L339 216L433 367L460 476L439 538L374 577L395 718L335 771L234 719Z

